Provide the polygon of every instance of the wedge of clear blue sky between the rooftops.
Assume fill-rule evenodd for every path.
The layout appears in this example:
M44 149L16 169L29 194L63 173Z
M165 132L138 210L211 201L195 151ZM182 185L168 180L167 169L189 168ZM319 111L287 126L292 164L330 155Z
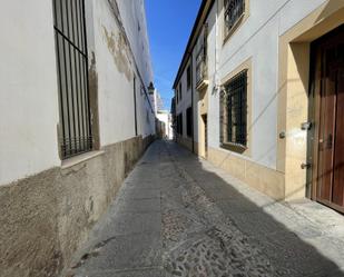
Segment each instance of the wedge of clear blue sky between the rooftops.
M145 0L155 87L170 109L173 83L202 0Z

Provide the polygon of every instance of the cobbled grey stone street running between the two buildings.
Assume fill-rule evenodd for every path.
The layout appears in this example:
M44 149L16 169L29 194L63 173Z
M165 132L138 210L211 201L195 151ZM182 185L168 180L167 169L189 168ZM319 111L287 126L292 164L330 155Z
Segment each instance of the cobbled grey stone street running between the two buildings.
M343 268L341 215L307 200L274 202L156 141L66 276L341 277Z

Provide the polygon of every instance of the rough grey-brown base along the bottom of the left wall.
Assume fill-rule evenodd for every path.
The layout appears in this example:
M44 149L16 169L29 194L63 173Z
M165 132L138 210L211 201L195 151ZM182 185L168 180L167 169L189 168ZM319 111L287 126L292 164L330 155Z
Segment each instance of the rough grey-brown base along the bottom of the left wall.
M136 137L68 169L0 187L0 276L58 276L153 141Z

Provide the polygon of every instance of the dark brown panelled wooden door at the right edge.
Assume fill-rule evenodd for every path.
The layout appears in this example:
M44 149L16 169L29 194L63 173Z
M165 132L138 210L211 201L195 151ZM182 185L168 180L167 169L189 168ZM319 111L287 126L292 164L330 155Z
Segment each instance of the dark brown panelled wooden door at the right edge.
M344 207L344 32L338 28L315 47L320 78L317 200Z

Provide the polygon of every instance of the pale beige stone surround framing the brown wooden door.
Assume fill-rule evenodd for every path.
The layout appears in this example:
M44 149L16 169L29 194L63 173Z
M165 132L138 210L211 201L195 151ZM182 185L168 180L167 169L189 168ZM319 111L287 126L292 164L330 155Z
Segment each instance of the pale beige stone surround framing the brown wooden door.
M344 23L344 2L326 1L296 26L279 37L278 115L277 115L277 171L285 175L285 199L315 199L307 141L311 131L302 123L314 121L309 91L311 42ZM286 133L279 138L279 133ZM304 167L302 168L302 165Z

